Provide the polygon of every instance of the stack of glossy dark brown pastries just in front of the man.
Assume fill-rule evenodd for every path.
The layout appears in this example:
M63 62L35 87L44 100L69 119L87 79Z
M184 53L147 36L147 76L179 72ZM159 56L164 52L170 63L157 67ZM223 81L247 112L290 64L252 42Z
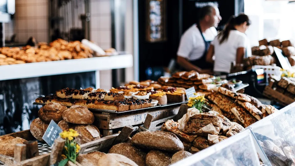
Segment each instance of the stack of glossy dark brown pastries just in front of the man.
M185 89L195 87L198 92L211 92L215 88L213 84L214 76L209 74L199 74L192 70L189 72L181 71L172 75L172 77L160 77L159 83L166 86L182 87Z

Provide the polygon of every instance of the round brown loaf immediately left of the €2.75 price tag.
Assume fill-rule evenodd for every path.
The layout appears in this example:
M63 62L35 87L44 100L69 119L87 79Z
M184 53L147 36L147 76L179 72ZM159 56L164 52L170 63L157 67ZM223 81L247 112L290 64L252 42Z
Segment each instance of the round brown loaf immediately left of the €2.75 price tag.
M30 131L32 133L32 135L39 141L44 142L44 140L42 139L46 129L45 128L45 124L43 121L41 121L40 118L36 118L32 121L31 125L30 125ZM47 126L48 127L48 126Z

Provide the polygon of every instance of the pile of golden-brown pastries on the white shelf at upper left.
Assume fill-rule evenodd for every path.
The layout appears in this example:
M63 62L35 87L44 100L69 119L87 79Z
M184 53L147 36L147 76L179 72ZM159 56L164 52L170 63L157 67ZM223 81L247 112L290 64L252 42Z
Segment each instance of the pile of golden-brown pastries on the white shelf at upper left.
M11 57L21 61L2 63L6 65L18 64L24 62L44 62L58 61L65 59L79 59L92 57L93 51L80 41L67 42L57 39L49 45L47 43L39 43L39 47L31 47L29 45L23 47L2 47L0 48L1 56ZM1 58L0 56L0 58Z

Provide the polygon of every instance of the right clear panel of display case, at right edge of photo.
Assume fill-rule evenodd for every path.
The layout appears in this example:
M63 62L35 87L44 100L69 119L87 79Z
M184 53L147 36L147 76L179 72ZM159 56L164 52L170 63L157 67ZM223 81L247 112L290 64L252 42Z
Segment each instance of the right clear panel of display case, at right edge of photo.
M293 165L295 144L295 103L249 126L264 164Z

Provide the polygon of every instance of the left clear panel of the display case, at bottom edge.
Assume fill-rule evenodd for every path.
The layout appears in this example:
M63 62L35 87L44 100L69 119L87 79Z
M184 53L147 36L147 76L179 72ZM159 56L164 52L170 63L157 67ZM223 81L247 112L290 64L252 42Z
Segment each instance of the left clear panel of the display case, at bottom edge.
M259 166L249 129L187 157L172 166Z

